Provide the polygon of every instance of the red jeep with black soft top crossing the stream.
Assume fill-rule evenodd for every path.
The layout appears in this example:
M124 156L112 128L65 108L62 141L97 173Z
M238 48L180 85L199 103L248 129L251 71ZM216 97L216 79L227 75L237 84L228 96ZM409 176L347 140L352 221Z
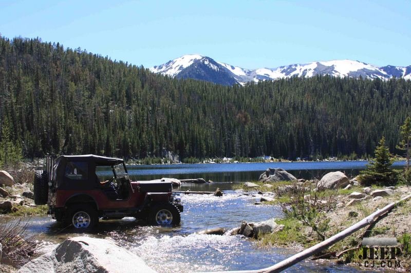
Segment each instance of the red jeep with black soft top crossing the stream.
M34 202L48 204L53 219L83 229L95 227L99 218L126 216L178 225L183 211L171 182L130 181L122 159L96 155L47 157L46 170L34 175Z

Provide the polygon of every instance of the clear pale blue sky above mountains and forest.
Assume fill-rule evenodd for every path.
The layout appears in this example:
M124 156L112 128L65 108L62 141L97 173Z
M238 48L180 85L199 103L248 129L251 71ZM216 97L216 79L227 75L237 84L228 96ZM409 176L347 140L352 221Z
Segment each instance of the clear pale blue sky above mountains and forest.
M411 1L6 1L0 33L151 67L198 53L242 68L411 65Z

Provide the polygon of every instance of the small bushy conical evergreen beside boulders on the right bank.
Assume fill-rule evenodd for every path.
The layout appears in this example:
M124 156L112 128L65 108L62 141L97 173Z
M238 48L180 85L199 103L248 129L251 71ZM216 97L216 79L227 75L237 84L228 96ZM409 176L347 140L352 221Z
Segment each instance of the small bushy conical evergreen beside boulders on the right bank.
M367 169L361 171L360 183L366 186L379 184L390 186L396 183L396 172L390 168L394 159L391 158L388 147L385 145L385 137L382 137L375 150L375 159L367 165Z

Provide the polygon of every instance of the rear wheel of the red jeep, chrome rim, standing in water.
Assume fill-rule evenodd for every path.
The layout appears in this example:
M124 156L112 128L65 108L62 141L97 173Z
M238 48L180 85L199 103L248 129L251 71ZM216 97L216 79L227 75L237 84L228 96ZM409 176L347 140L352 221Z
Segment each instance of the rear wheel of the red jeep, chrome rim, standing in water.
M90 205L72 207L69 216L71 224L79 230L91 230L99 222L96 209Z

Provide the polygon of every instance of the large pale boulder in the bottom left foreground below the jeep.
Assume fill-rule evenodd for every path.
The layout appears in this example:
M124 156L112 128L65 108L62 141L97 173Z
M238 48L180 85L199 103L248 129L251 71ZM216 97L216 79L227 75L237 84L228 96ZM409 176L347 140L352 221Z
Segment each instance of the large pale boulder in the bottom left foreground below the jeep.
M141 272L155 273L137 255L106 239L74 237L50 253L25 264L18 272Z

